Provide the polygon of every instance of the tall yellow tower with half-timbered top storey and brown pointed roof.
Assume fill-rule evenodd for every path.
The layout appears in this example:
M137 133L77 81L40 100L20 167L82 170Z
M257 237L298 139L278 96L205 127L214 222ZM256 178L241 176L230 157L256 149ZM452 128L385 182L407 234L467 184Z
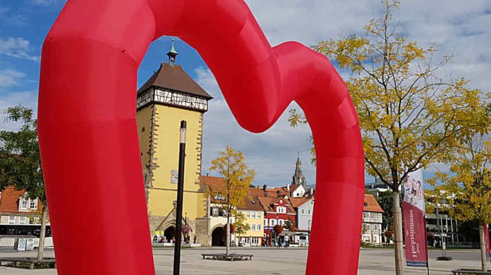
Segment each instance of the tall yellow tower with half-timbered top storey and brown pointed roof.
M207 243L207 197L200 186L203 151L203 114L212 99L183 67L176 65L177 52L168 53L137 92L137 124L144 167L150 232L172 239L175 232L179 125L187 121L183 197L183 226L191 228L190 241Z

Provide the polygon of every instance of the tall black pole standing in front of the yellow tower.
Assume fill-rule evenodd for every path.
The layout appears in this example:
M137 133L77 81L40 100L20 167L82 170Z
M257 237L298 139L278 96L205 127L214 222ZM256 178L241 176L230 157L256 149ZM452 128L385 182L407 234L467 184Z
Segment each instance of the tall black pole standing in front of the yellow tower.
M177 175L176 232L174 243L174 275L179 275L181 267L181 232L183 227L184 159L186 157L186 121L181 120L179 131L179 173Z

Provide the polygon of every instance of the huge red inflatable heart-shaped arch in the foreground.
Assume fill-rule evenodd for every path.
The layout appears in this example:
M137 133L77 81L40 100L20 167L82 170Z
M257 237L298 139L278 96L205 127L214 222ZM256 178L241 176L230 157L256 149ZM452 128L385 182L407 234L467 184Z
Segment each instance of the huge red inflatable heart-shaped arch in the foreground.
M304 109L317 152L306 274L356 274L363 146L346 85L325 56L271 47L242 0L67 2L43 45L38 106L58 274L155 274L135 91L162 35L198 50L245 129L265 131L292 100Z

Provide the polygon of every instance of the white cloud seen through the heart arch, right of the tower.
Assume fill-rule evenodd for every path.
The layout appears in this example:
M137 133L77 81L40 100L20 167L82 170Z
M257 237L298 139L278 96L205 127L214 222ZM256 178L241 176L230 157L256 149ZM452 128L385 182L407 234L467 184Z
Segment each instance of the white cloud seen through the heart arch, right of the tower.
M308 126L291 128L287 120L288 113L285 112L268 131L250 133L242 129L233 118L212 72L198 68L195 73L198 84L214 96L209 102L209 111L204 116L203 173L208 172L211 160L229 145L242 151L247 164L256 170L255 184L288 183L295 169L297 151L303 160L308 182L315 181L315 168L310 164L308 153L311 146L308 141ZM295 103L292 105L298 108Z

